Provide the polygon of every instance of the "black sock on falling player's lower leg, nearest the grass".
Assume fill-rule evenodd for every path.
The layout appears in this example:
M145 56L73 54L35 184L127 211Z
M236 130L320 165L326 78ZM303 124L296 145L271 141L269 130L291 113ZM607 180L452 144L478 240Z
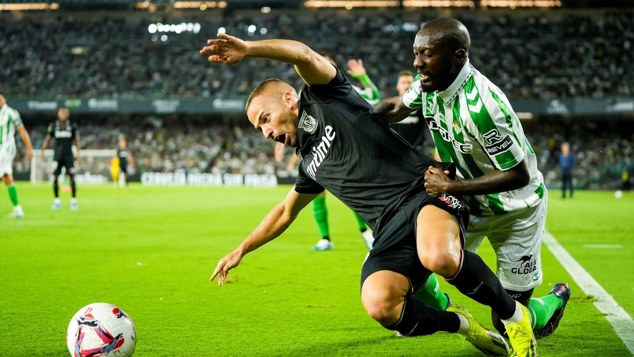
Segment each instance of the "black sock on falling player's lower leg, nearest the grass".
M405 336L431 335L438 331L454 333L460 328L460 318L456 313L434 309L413 295L408 295L405 297L403 312L398 322L383 327Z

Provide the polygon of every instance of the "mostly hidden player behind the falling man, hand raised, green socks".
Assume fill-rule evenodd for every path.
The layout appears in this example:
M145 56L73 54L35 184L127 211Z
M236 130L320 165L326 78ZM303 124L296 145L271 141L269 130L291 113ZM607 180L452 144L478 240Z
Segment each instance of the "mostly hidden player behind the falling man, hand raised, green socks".
M328 60L328 62L333 65L337 65L337 62L333 60L332 57L325 55L323 56ZM349 74L354 79L357 79L363 88L359 88L358 86L354 86L354 90L356 90L363 99L365 99L368 103L374 105L377 104L381 100L381 94L378 91L377 86L372 82L370 77L368 77L368 73L365 71L365 67L363 67L363 60L348 60L348 70L347 74ZM409 86L407 88L410 88ZM275 147L275 159L278 163L281 163L284 159L284 147L285 145L282 143L278 143ZM288 160L287 171L292 172L295 170L295 165L299 156L293 155ZM354 212L354 218L356 218L357 224L359 225L359 233L361 234L361 238L363 238L363 242L369 248L372 248L372 242L374 238L372 236L372 231L368 229L368 226L363 221L361 216L359 216L356 212ZM328 225L328 206L326 206L326 191L321 192L318 198L313 200L313 216L315 217L315 222L317 222L317 227L319 228L321 239L317 241L317 244L313 246L314 252L323 252L324 250L329 250L333 248L333 243L330 240L330 226Z

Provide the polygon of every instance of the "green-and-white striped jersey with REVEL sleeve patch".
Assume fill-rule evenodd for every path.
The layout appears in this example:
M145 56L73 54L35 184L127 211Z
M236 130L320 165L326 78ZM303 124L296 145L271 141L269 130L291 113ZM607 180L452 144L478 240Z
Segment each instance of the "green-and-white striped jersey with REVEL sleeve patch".
M424 108L425 121L443 161L456 164L458 179L508 170L522 160L531 175L521 189L465 196L472 215L498 215L539 205L546 188L531 144L507 97L469 60L444 91L424 93L419 76L403 95L412 109Z

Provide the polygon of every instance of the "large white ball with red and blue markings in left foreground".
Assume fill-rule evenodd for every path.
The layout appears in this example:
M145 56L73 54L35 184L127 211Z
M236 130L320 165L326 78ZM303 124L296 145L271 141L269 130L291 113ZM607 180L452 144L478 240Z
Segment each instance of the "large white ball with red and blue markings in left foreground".
M119 307L95 302L79 309L66 333L73 357L128 357L136 346L134 323Z

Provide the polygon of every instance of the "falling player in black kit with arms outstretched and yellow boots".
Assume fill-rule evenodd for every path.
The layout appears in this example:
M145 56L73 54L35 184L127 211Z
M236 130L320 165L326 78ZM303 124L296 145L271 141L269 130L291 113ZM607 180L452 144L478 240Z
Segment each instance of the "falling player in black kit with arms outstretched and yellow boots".
M222 286L245 254L280 236L324 189L355 210L375 233L361 269L361 301L383 327L403 335L458 333L485 354L508 356L505 340L480 325L462 306L446 311L413 296L431 272L507 321L521 307L480 257L462 250L467 211L448 194L430 198L424 174L439 165L398 136L353 90L342 72L306 44L290 40L243 41L227 34L207 41L210 62L237 64L265 58L295 65L304 79L299 95L278 79L259 84L247 100L250 123L265 138L301 152L295 187L233 252L218 262L210 280ZM448 165L444 169L450 169ZM450 172L448 170L447 172ZM523 314L519 316L523 317ZM517 329L522 328L517 333ZM532 339L518 323L512 345Z

